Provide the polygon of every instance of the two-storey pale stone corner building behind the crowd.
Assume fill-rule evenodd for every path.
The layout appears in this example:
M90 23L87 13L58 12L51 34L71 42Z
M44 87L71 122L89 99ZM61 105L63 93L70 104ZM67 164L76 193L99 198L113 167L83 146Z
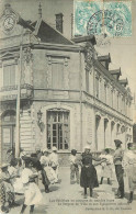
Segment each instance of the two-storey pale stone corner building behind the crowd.
M131 92L109 70L110 56L98 57L94 36L68 41L42 18L30 25L11 8L5 10L19 21L0 35L0 135L2 132L4 154L16 144L12 113L16 112L19 72L20 147L26 153L43 147L52 150L55 145L61 165L67 165L70 150L80 153L87 144L98 153L113 148L114 139L120 138L125 148L133 137ZM4 19L7 14L1 22ZM11 65L15 80L8 86L4 67Z

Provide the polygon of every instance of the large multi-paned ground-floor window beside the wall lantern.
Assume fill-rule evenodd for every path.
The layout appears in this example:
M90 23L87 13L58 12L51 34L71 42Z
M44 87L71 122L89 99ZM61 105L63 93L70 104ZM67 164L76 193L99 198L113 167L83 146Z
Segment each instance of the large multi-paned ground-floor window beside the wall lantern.
M47 147L58 150L69 148L69 112L65 110L47 111Z

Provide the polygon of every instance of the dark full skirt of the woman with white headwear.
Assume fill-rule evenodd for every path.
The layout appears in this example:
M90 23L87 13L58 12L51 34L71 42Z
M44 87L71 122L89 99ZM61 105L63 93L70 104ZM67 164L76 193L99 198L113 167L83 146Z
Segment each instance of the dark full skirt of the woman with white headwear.
M97 170L94 166L83 166L80 174L80 185L82 188L97 188L99 187Z

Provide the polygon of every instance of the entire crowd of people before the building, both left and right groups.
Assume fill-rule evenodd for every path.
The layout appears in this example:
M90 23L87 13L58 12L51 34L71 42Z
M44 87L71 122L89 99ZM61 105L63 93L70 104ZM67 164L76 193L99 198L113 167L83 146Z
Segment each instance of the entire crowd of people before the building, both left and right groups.
M90 196L93 196L93 189L103 184L103 179L107 179L107 184L112 184L113 166L115 169L118 189L117 199L125 196L124 174L128 178L129 199L133 202L134 191L136 189L136 144L128 143L127 150L122 149L122 142L115 139L115 150L111 153L110 148L102 150L101 155L94 156L90 146L84 147L82 154L77 154L71 149L69 157L70 164L70 184L76 182L83 188L84 198L87 190ZM37 149L36 153L26 155L21 149L20 158L14 158L14 150L8 150L8 164L1 166L0 194L1 211L9 213L10 209L16 206L15 194L24 195L24 203L21 213L24 213L26 206L30 206L30 213L33 213L36 204L39 204L43 194L39 188L39 178L45 189L49 193L49 184L59 182L59 161L57 148L53 147L52 154L47 148ZM95 167L101 166L101 178L98 179Z

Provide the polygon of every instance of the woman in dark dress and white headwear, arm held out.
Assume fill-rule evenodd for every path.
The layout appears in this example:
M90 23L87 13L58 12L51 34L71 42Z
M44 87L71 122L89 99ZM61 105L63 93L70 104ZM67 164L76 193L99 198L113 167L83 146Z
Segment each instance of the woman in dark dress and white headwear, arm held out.
M84 196L87 196L87 188L90 189L90 196L92 196L92 189L99 187L98 174L92 165L92 160L101 161L102 159L92 156L90 147L86 146L84 153L82 153L82 168L80 174L80 185L84 188Z

